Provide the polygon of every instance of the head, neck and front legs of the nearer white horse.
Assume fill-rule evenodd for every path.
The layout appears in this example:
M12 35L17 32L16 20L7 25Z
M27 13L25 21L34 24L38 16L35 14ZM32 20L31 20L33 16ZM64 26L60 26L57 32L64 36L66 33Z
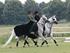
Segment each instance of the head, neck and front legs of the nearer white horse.
M32 41L35 43L35 45L37 45L37 41L39 40L39 38L41 38L43 41L46 40L46 38L43 36L44 26L45 26L46 22L48 22L48 19L45 15L42 15L40 20L37 22L38 31L37 31L36 36L38 36L38 37L36 38L36 41L34 41L34 39L32 39ZM45 41L45 42L47 43L47 41Z

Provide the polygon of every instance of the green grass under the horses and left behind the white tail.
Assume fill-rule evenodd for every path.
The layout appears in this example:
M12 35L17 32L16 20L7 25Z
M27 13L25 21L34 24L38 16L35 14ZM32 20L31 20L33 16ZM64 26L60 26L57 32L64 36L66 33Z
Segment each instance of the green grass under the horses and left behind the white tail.
M61 26L61 25L60 25ZM11 34L11 30L14 26L0 26L0 47L8 39ZM23 42L21 41L19 47L15 47L14 42L10 43L7 47L0 48L0 53L70 53L70 43L65 43L64 38L55 38L59 46L55 46L52 40L48 40L48 45L43 47L35 47L31 40L29 40L30 47L23 48ZM41 41L41 40L40 40ZM41 42L38 44L40 45Z

